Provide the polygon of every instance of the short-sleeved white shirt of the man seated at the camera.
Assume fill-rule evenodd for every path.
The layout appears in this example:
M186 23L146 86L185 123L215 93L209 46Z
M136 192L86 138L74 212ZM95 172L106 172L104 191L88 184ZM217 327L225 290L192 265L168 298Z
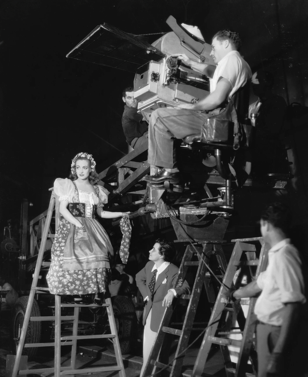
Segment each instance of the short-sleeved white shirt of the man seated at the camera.
M251 79L251 69L246 61L240 56L238 51L230 51L220 60L215 69L213 78L209 79L210 92L216 89L220 77L225 78L231 84L231 92L228 101L233 94L243 87Z

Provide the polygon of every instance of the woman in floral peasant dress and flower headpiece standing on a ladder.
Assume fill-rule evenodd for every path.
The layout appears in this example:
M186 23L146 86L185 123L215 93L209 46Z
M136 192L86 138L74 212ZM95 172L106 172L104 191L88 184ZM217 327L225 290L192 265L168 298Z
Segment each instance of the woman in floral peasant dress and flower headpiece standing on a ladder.
M63 219L55 234L46 279L51 294L74 296L71 302L86 304L80 295L96 293L94 303L101 305L99 293L105 293L109 284L113 248L94 211L96 208L97 215L106 219L128 212L103 210L108 191L90 183L97 177L92 155L79 153L72 160L69 179L55 180L54 192L59 196Z

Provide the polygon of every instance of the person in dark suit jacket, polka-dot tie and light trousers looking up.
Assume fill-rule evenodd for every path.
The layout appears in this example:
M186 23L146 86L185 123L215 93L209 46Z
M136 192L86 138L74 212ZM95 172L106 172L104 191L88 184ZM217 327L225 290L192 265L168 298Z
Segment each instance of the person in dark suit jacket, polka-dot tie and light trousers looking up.
M149 262L136 275L136 283L143 299L147 300L143 311L143 364L145 369L152 345L155 341L165 308L181 294L190 294L186 280L179 287L174 287L179 268L170 263L175 256L174 244L157 239L149 251ZM179 284L178 284L179 285Z

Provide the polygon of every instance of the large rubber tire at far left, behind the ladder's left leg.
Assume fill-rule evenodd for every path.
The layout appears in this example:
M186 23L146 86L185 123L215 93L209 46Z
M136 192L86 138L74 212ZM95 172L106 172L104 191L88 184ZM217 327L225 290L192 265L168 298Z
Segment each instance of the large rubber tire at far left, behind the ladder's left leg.
M12 353L16 354L16 344L17 342L13 338L18 337L18 325L22 328L23 320L25 318L26 308L28 304L29 296L19 297L15 302L12 310L12 322L11 322L11 349ZM39 317L40 308L38 307L37 301L33 300L33 305L31 309L30 317ZM25 343L40 343L42 334L42 323L41 321L29 321ZM28 356L28 361L32 360L37 353L37 347L24 348L22 355Z

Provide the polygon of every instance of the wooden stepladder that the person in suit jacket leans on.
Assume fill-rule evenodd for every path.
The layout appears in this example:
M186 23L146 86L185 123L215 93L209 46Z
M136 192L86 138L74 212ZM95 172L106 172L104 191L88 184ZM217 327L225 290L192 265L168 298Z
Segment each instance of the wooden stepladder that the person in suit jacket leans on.
M165 309L162 322L160 323L154 345L152 346L149 355L148 362L146 363L145 370L140 377L151 375L154 367L157 367L159 369L166 369L168 372L170 372L170 377L176 377L180 375L184 359L183 354L188 345L189 336L191 334L191 331L196 330L196 328L193 328L192 326L194 324L194 318L203 285L205 286L208 301L214 304L216 299L215 290L211 281L211 279L213 279L213 275L211 274L211 271L208 269L207 265L209 265L209 261L213 261L214 257L214 261L216 259L218 264L218 266L216 265L215 268L216 270L217 268L220 270L220 278L224 276L227 268L225 254L222 250L222 242L223 241L217 240L204 240L198 241L195 244L191 244L186 247L174 287L177 287L178 284L182 285L189 267L197 266L198 269L191 295L180 296L180 298L182 299L189 300L185 319L182 324L182 329L180 330L169 327L171 316L175 309L175 303L175 305L171 305L171 307ZM197 256L198 260L192 261L193 256ZM210 269L212 268L214 267L211 266ZM179 343L177 345L176 354L170 366L159 362L160 348L165 339L165 334L173 334L179 336Z

